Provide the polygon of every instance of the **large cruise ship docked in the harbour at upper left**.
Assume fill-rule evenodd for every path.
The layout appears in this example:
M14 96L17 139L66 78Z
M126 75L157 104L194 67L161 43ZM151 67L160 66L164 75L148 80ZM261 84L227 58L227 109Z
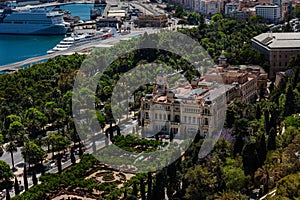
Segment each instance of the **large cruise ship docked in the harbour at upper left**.
M7 9L0 16L0 34L64 35L68 28L58 11Z

